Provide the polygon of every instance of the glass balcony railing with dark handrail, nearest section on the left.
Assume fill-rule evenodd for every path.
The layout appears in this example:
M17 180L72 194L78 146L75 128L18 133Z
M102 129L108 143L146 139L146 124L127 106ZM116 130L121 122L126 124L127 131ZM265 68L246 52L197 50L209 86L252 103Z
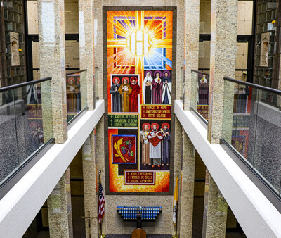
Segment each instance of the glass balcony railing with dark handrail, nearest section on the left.
M51 77L0 88L0 187L53 139L50 88Z

